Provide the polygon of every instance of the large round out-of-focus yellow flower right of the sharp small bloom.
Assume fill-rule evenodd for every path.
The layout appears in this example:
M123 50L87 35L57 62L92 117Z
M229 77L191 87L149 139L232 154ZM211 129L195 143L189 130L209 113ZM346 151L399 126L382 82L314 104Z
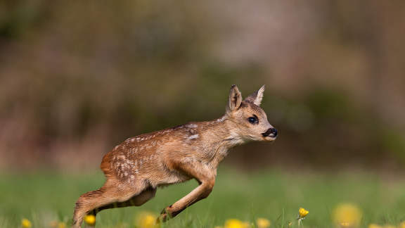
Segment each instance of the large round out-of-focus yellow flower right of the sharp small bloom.
M361 220L361 210L355 205L344 203L333 212L333 221L339 227L357 227Z

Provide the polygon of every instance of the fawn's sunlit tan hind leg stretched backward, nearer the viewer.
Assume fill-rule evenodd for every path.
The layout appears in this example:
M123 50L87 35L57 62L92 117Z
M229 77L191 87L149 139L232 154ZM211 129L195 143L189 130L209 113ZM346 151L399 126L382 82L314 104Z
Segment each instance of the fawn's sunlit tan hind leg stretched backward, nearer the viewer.
M130 186L106 182L101 189L82 194L76 202L72 227L81 227L84 215L91 213L94 209L128 201L133 196L141 194L146 187L144 182Z

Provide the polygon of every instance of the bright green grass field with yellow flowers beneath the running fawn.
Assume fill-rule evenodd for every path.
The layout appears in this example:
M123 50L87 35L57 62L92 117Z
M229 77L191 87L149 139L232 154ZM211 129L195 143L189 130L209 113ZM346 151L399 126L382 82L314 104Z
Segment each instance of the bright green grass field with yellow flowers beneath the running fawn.
M70 224L78 196L103 184L101 172L64 175L53 172L0 177L0 227L50 227L52 221ZM136 208L104 210L97 227L135 227L136 215L160 210L195 187L195 181L158 189L156 197ZM162 227L215 227L230 218L254 222L271 220L271 227L297 227L298 208L309 210L304 227L334 227L331 219L339 203L352 203L363 213L361 227L405 220L405 181L366 172L334 174L220 169L217 184L205 200L184 210Z

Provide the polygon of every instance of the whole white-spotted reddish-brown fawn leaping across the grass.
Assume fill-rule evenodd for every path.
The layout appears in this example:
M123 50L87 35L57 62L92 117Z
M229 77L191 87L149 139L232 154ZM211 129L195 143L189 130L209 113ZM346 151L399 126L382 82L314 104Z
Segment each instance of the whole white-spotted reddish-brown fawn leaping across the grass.
M238 87L233 85L221 118L141 134L115 146L101 162L105 184L77 200L73 227L81 227L85 215L142 205L155 196L159 186L189 179L196 179L199 186L165 208L158 221L165 222L206 198L229 148L248 141L276 139L277 129L259 107L263 92L264 86L242 100Z

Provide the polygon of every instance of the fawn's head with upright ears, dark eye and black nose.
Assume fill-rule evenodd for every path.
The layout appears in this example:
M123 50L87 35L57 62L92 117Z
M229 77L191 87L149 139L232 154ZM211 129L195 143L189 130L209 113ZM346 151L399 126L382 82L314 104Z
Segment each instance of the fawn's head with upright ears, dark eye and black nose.
M234 123L231 134L246 140L274 141L277 129L270 125L266 113L260 108L263 99L264 86L245 100L236 85L231 87L229 102L226 107L228 120Z

